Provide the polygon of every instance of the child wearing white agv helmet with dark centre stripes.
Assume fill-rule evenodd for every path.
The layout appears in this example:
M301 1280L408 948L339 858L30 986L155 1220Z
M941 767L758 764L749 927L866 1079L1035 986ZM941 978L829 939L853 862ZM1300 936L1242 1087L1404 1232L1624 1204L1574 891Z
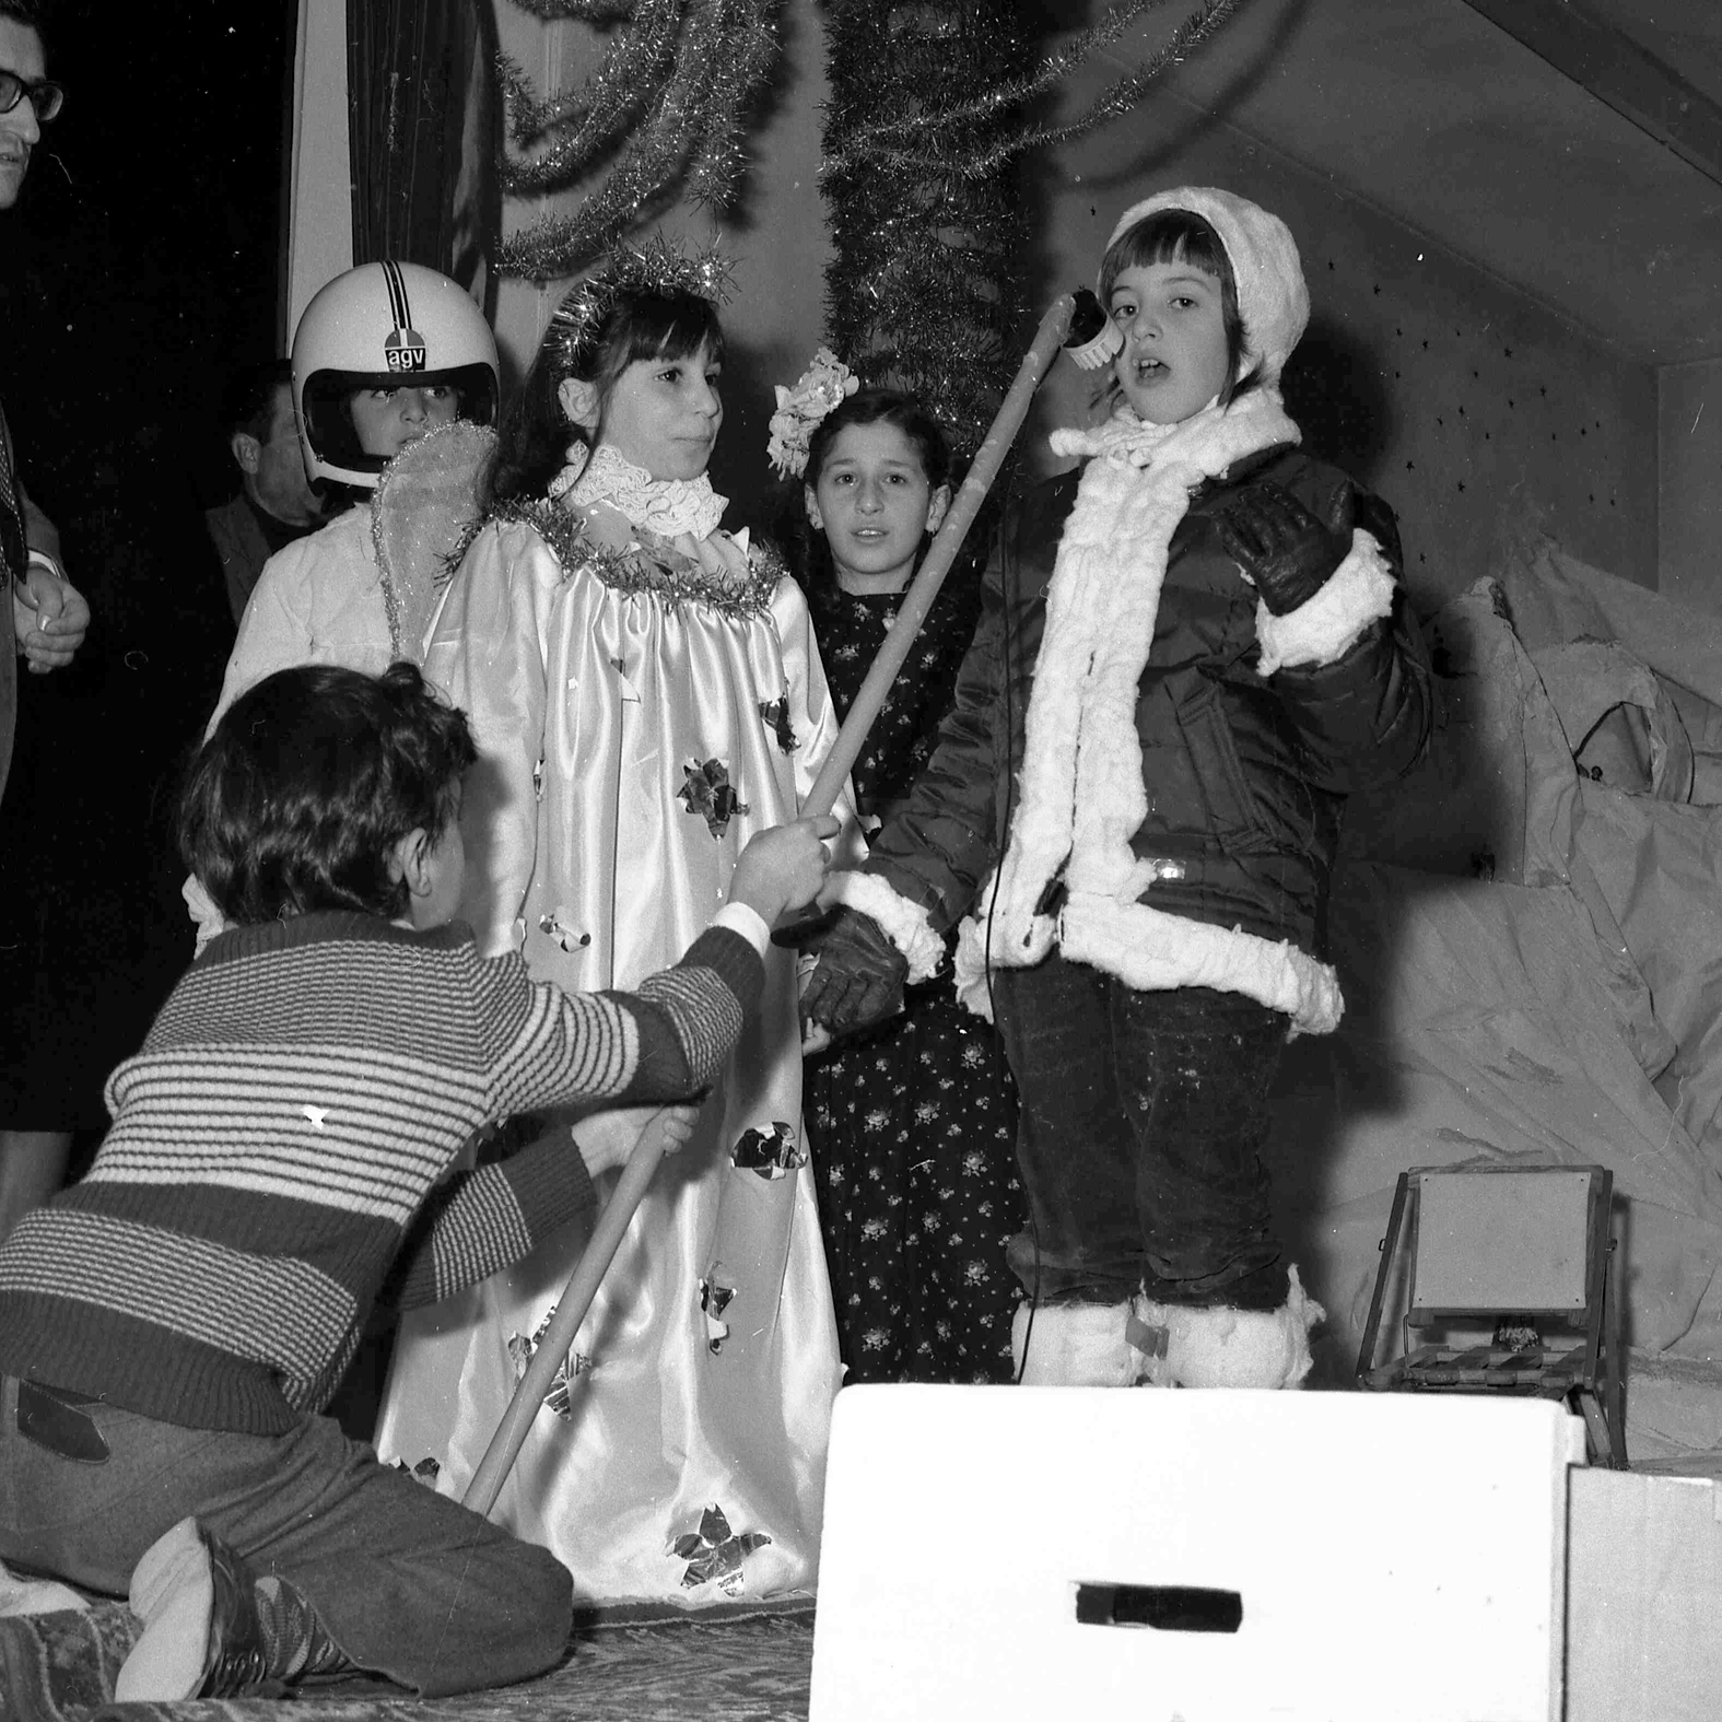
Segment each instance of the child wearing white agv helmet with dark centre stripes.
M455 418L494 424L496 341L472 296L418 263L362 263L325 282L293 334L293 412L312 484L350 503L263 565L210 728L296 663L377 675L418 656L384 601L369 499L403 448Z

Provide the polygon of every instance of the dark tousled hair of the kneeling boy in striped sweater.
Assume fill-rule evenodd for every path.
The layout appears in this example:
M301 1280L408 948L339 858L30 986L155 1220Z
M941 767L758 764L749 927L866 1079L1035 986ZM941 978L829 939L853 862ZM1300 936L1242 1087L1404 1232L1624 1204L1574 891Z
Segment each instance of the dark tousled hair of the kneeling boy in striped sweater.
M179 802L179 852L238 925L315 909L394 920L396 842L436 842L477 758L467 715L410 663L382 675L279 670L241 694L203 744Z

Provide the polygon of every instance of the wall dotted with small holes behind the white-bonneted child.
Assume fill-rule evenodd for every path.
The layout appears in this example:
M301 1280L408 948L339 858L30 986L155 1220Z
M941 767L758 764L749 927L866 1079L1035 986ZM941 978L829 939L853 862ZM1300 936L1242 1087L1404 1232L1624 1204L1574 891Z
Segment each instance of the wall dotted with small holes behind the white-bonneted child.
M1316 453L1393 505L1426 606L1538 523L1584 561L1655 585L1650 367L1224 124L1174 100L1138 112L1140 127L1083 139L1049 176L1049 291L1092 281L1114 220L1152 191L1219 184L1254 198L1292 227L1310 286L1286 401ZM1044 420L1069 422L1083 403L1061 367Z

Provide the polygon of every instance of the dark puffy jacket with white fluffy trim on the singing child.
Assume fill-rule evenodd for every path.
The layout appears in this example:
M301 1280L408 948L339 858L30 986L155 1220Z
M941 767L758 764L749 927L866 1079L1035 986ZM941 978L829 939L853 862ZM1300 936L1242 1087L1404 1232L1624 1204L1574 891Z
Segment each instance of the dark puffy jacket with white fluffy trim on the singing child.
M1228 417L1243 417L1247 401ZM1397 604L1393 520L1359 492L1369 530L1353 532L1340 570L1309 604L1266 616L1216 539L1211 498L1271 475L1321 510L1347 482L1285 446L1295 430L1281 420L1261 453L1211 460L1212 480L1192 463L1166 486L1164 537L1142 579L1147 534L1135 544L1123 534L1119 554L1083 505L1111 482L1118 515L1145 522L1152 480L1193 424L1061 436L1090 461L1037 491L1007 527L988 575L995 608L964 660L956 711L875 840L866 871L901 897L890 920L906 926L926 911L932 930L957 926L959 995L982 1014L990 963L1033 964L1057 942L1131 987L1240 992L1283 1011L1295 1031L1338 1021L1340 990L1312 940L1340 808L1353 789L1407 770L1429 727L1428 666ZM1178 560L1166 567L1173 534ZM1073 592L1073 553L1095 608ZM1013 618L1031 639L1014 672ZM1061 629L1076 665L1062 677L1052 668ZM1014 725L1013 673L1033 675ZM1269 677L1278 696L1266 696ZM1013 785L1021 799L1004 830L994 816L1013 804Z

